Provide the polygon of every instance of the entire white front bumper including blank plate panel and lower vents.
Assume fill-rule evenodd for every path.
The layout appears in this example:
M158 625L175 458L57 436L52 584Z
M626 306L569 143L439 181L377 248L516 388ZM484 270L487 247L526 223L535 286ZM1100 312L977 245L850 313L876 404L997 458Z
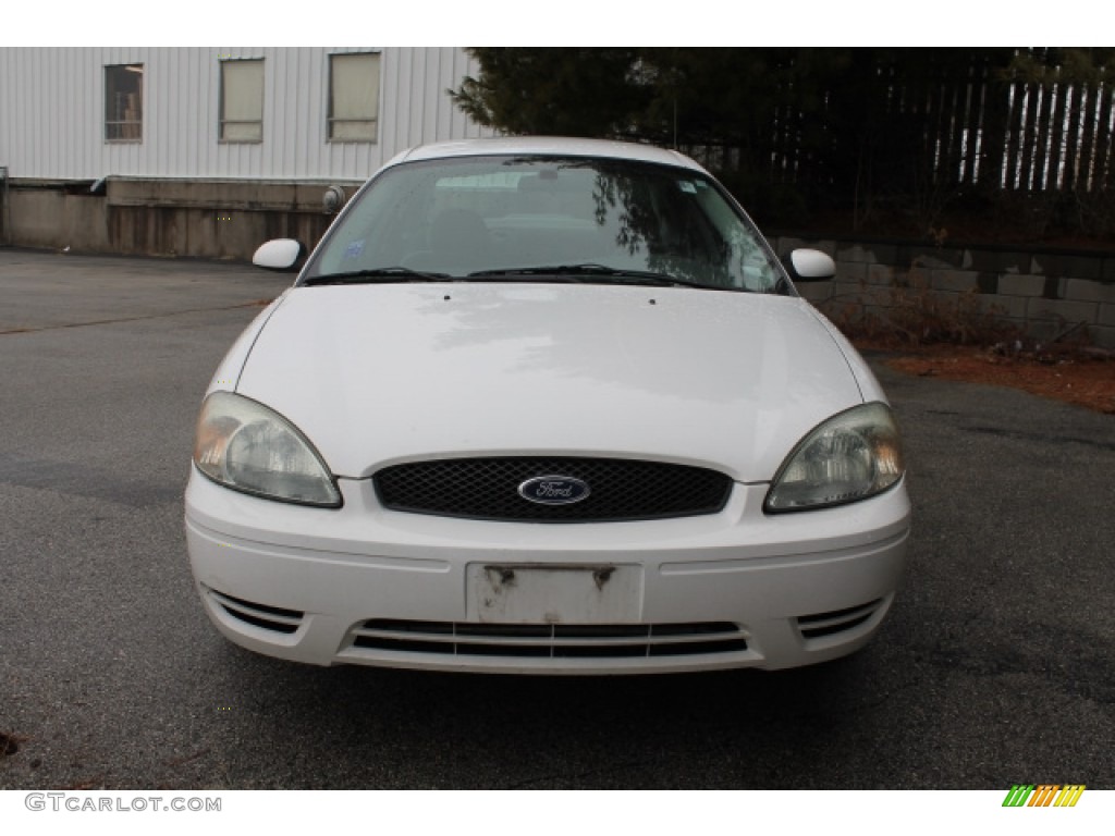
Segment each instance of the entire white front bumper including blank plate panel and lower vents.
M230 640L314 664L506 673L812 664L878 631L910 527L901 484L777 516L766 485L737 484L715 515L575 525L389 512L370 480L340 486L333 511L191 476L191 564Z

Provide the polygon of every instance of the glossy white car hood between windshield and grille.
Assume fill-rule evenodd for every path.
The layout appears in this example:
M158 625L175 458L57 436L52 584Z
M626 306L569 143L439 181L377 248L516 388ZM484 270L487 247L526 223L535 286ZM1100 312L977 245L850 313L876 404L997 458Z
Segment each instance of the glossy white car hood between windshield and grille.
M806 432L863 400L801 299L591 284L295 288L236 391L352 478L403 460L546 454L766 482Z

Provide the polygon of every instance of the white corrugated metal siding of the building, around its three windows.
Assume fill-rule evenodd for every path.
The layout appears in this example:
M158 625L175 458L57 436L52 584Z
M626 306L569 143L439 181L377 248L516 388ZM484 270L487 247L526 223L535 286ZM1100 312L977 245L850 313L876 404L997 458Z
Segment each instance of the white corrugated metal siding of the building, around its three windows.
M489 135L445 90L460 49L384 48L379 140L327 142L329 58L355 47L0 49L0 165L13 178L362 179L413 145ZM222 58L264 60L263 142L217 142ZM144 65L143 142L106 143L105 67Z

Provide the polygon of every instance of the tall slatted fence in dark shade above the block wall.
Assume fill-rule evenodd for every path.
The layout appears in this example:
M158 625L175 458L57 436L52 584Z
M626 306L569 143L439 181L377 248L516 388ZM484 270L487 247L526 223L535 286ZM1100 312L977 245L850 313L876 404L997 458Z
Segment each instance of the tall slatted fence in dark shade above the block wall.
M1035 81L952 52L915 75L878 65L866 82L849 75L820 96L783 81L774 111L753 115L770 126L766 147L728 140L683 149L721 172L758 162L769 183L844 194L966 186L1098 194L1115 186L1115 71L1080 80L1048 67Z

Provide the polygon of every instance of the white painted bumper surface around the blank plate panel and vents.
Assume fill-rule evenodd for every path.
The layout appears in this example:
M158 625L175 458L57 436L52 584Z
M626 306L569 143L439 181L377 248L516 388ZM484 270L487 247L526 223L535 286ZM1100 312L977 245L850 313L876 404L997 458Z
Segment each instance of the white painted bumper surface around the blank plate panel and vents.
M638 673L811 664L850 653L876 631L901 582L910 505L891 490L845 508L765 517L764 486L737 486L721 514L585 525L489 524L385 513L370 483L341 482L337 511L226 490L193 473L186 543L206 612L231 641L314 664L440 670ZM469 564L642 568L643 623L728 621L748 650L695 657L524 659L350 648L366 619L466 621ZM229 618L205 587L306 612L285 635ZM807 642L794 620L883 600L861 628Z

